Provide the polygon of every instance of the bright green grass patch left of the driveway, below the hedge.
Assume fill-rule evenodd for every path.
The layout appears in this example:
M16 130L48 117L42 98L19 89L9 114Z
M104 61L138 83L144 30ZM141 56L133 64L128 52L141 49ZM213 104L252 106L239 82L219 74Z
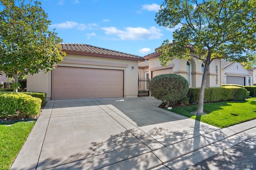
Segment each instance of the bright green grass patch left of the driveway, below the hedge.
M0 170L9 170L36 121L0 123Z

